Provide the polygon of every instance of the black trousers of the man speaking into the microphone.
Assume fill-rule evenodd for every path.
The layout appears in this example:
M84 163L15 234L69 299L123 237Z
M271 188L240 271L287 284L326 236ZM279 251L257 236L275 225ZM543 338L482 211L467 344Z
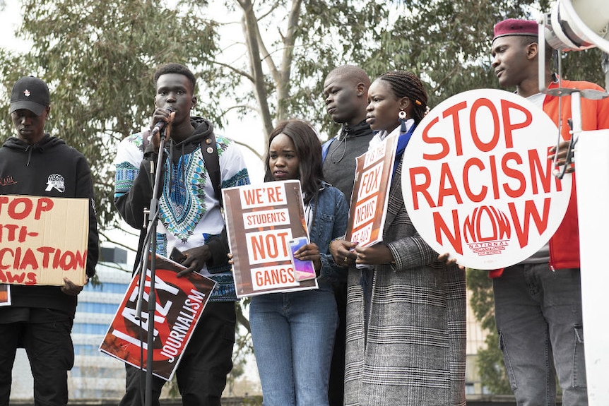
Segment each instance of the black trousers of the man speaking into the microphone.
M182 405L220 406L235 345L235 302L208 302L177 366ZM146 372L125 364L125 395L119 406L141 406L146 400ZM165 381L153 376L152 405L159 406Z

